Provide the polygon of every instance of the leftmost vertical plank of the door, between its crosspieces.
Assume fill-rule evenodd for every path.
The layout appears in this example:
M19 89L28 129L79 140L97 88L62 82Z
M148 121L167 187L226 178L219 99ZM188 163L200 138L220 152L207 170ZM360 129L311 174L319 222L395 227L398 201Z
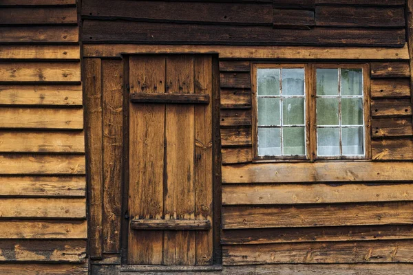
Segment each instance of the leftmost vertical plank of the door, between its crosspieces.
M165 92L165 57L131 56L131 93ZM161 219L165 104L129 103L129 215ZM128 263L162 264L162 231L129 230Z

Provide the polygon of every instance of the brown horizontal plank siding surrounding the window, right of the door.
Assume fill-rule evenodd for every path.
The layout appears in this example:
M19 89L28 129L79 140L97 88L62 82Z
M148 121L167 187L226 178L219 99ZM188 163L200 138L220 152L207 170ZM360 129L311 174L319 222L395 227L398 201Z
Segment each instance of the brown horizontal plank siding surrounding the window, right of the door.
M372 161L295 164L252 162L252 62L220 62L224 265L412 263L408 61L370 62Z

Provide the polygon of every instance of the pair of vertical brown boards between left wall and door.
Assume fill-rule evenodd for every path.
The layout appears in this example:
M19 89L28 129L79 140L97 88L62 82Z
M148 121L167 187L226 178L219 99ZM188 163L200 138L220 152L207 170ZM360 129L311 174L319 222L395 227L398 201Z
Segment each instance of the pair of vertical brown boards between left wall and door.
M123 61L85 58L89 256L119 259L123 182Z

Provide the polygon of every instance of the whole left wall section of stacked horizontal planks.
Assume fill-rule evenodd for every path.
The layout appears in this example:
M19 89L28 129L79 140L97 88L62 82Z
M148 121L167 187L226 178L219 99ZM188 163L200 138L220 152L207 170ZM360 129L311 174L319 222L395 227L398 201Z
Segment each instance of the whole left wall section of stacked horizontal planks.
M87 274L75 0L0 1L0 274Z

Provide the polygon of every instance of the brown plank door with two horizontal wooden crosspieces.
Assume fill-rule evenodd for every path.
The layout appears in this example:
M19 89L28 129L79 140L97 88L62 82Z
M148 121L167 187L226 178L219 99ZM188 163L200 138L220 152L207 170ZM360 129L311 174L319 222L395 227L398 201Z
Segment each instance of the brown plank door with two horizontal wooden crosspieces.
M212 264L212 57L129 58L128 263Z

